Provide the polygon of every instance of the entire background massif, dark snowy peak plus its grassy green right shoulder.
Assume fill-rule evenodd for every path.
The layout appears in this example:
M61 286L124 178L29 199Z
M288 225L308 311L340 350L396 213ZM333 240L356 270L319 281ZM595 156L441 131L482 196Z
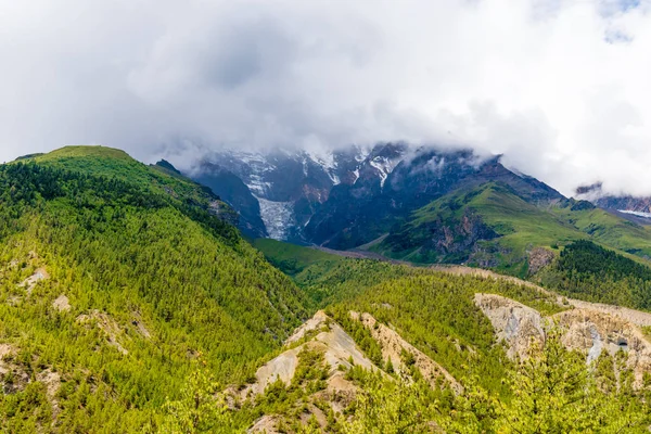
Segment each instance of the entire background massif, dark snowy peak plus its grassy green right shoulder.
M499 156L469 150L382 143L324 156L224 151L193 173L245 221L259 213L254 237L520 277L582 239L651 258L642 217L596 208L582 199L587 190L564 197Z

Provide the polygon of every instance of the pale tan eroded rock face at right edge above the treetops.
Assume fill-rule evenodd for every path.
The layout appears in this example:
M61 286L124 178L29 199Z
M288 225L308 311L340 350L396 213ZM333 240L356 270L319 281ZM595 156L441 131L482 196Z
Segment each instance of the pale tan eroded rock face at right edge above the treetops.
M567 348L586 354L587 363L602 352L614 355L623 350L626 365L635 374L635 386L642 385L646 372L651 373L651 343L637 326L640 321L646 323L649 314L638 312L640 315L626 319L620 309L611 312L605 305L579 302L580 308L542 318L531 307L494 294L475 294L475 304L490 320L498 340L507 343L509 357L526 356L532 342L544 341L546 329L554 326L561 329L561 340Z

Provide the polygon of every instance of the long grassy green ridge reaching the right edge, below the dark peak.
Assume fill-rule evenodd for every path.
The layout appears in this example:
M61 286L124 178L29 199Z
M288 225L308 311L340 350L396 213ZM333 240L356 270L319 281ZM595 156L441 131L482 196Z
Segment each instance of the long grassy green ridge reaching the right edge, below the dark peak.
M468 263L526 277L532 248L556 250L575 240L651 255L648 228L573 201L532 204L497 182L432 202L372 248L417 264Z

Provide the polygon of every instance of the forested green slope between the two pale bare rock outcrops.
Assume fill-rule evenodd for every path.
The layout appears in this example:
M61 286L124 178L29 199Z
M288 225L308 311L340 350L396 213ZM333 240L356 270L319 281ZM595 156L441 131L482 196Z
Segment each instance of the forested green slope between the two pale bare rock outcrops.
M290 248L301 257L302 251L312 251ZM499 379L508 360L503 350L495 346L493 328L475 306L474 294L501 294L545 314L562 310L551 297L529 286L369 259L316 260L294 281L311 301L310 305L326 308L378 365L382 360L376 344L366 329L348 318L349 310L367 311L379 321L391 323L452 375L463 376L472 367L485 387L499 393L505 392Z

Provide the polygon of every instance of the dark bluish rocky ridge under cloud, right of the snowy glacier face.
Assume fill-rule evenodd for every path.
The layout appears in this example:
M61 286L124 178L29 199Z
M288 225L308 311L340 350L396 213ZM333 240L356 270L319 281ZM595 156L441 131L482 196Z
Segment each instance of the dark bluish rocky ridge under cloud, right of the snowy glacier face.
M391 232L432 201L492 180L516 189L533 203L565 200L548 186L506 169L497 157L481 161L470 151L421 149L404 157L386 178L369 176L353 186L335 187L305 232L318 245L358 247Z

